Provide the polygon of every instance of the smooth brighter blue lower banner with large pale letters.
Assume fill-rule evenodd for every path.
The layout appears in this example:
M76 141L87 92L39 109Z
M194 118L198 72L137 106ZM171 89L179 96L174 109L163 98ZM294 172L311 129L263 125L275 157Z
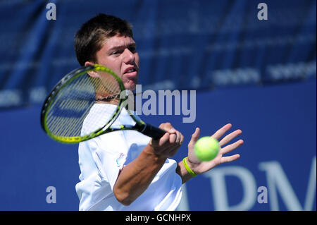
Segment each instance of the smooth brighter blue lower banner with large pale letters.
M40 110L0 113L0 210L79 207L78 145L49 138ZM227 154L240 159L185 183L179 209L316 210L316 81L197 92L194 123L183 123L183 115L141 117L155 126L170 121L182 132L178 162L196 127L201 137L226 123L242 130L244 145Z

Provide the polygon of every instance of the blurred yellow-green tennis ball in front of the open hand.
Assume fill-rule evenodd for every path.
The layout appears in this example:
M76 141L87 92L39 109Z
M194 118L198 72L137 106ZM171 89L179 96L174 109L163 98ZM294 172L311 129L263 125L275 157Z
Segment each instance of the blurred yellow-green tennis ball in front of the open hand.
M200 161L211 161L219 152L219 142L209 136L199 138L194 145L194 152Z

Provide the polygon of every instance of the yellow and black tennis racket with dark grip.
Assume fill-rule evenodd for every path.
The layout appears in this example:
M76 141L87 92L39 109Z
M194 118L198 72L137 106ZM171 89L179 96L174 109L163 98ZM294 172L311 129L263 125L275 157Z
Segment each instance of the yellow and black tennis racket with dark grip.
M129 109L133 125L113 126L122 109L128 108L127 92L118 75L105 66L77 68L65 75L46 97L41 126L49 137L63 143L78 143L116 130L137 130L155 140L161 138L166 131L144 123ZM95 108L102 111L89 116Z

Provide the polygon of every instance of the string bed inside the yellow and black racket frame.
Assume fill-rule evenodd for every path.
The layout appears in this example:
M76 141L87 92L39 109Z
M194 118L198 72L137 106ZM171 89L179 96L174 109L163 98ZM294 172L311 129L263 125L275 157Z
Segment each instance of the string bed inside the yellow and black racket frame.
M79 75L58 91L46 114L46 127L54 135L75 137L88 135L100 130L107 123L105 114L113 115L117 107L106 107L100 114L94 114L85 123L89 111L96 104L97 96L114 99L120 95L120 85L113 75L106 72L100 78L92 78L87 73Z

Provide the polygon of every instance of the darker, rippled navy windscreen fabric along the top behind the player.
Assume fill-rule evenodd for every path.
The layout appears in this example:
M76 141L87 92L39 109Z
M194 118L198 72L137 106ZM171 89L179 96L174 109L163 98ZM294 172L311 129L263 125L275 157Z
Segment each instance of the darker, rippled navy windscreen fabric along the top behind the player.
M0 107L42 103L79 66L75 32L97 13L132 23L147 89L316 79L314 0L1 1Z

